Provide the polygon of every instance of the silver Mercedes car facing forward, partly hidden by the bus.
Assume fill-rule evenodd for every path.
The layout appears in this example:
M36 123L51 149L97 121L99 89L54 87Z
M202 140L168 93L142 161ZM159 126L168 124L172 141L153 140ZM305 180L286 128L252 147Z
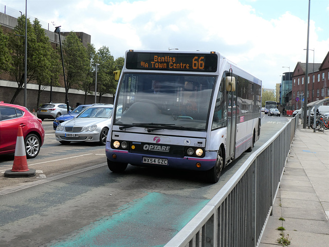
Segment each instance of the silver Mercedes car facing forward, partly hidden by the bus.
M70 142L99 142L106 144L111 125L113 104L94 105L77 117L62 122L55 131L56 140L61 144Z

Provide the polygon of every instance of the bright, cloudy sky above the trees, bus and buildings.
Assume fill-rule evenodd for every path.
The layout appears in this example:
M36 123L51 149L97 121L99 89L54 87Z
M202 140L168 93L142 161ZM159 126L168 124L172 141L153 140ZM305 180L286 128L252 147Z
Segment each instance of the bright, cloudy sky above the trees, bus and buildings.
M218 51L275 89L285 72L322 63L329 51L328 0L27 0L44 28L90 34L115 57L128 49ZM0 12L25 13L25 0L0 0ZM14 16L14 17L17 17ZM314 50L314 51L313 51Z

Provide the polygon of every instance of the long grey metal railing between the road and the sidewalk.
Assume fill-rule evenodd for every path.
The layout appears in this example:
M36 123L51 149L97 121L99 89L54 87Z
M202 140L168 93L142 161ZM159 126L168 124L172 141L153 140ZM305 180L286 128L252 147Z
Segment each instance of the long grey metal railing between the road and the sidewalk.
M278 192L298 119L297 115L289 120L254 152L165 247L258 246Z

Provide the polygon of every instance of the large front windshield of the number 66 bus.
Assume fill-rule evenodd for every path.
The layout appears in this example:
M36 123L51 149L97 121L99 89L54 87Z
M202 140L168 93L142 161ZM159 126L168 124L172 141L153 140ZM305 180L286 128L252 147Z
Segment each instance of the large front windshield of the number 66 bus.
M205 131L216 76L123 75L114 125Z

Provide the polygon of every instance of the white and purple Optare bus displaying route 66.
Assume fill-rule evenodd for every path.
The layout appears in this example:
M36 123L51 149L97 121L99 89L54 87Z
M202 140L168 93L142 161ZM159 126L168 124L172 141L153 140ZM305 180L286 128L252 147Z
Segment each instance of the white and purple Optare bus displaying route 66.
M128 164L188 169L216 183L259 139L262 81L219 52L127 50L114 74L105 146L112 172Z

